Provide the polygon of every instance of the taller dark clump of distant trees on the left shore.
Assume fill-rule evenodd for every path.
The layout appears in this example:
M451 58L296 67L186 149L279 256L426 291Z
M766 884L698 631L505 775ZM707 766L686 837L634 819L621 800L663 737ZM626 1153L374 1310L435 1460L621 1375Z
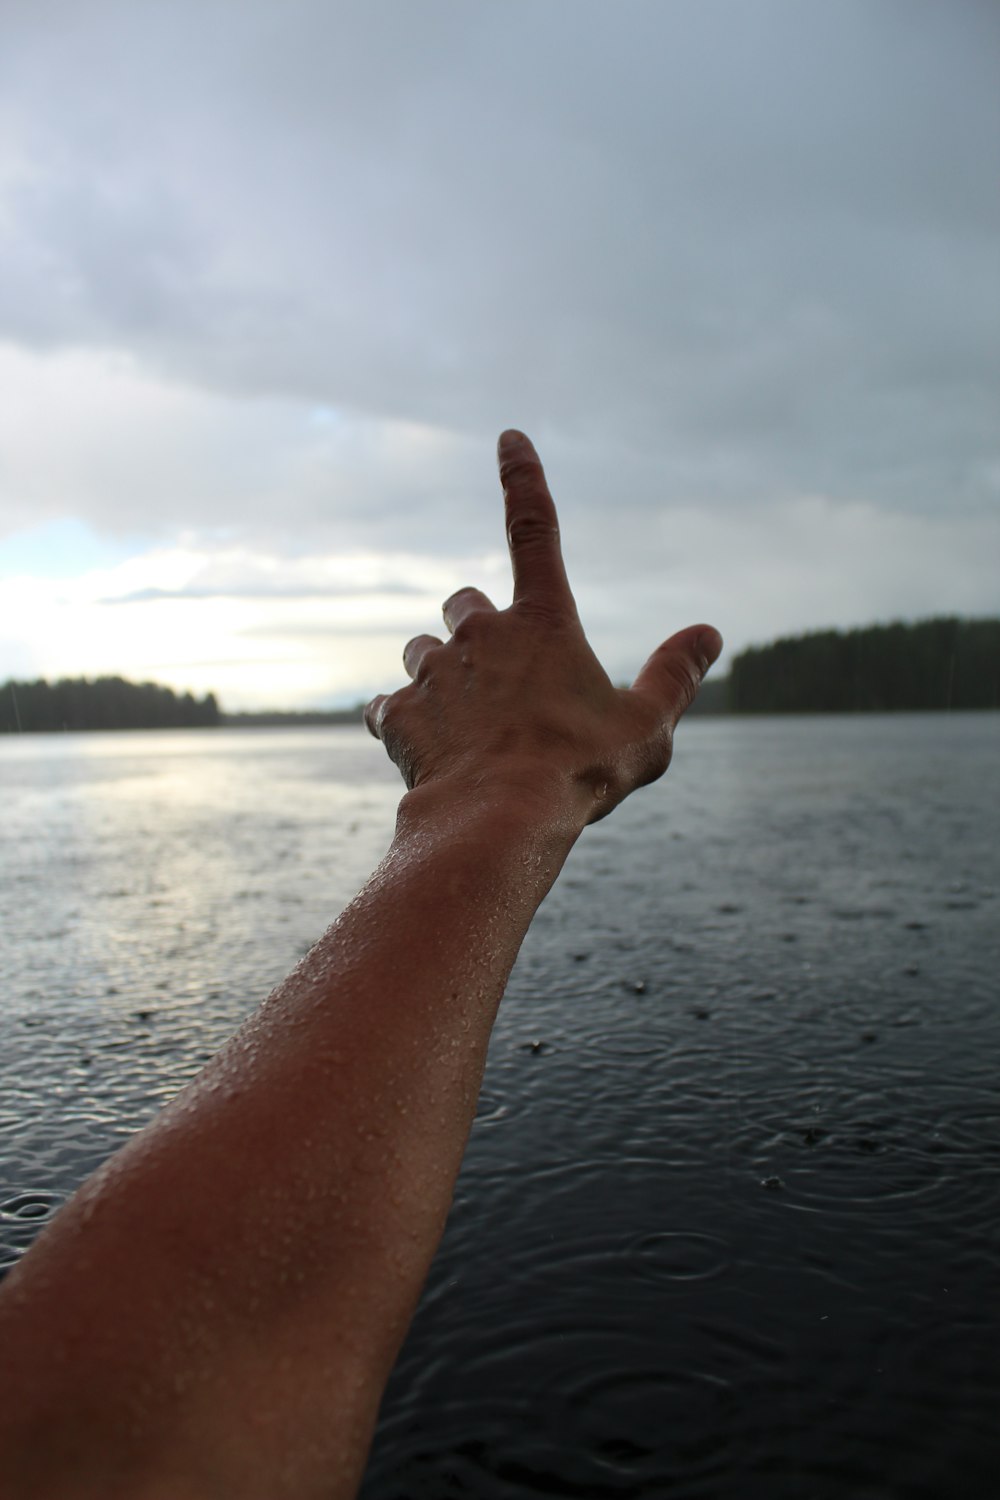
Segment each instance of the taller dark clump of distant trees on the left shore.
M214 693L196 699L157 682L121 676L61 678L0 687L0 734L57 729L210 729L220 720Z

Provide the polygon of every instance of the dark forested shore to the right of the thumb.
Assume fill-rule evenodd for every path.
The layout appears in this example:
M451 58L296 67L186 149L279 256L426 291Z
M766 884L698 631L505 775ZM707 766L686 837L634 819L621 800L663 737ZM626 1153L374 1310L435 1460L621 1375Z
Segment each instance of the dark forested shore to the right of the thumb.
M1000 620L820 630L741 652L738 714L1000 708Z

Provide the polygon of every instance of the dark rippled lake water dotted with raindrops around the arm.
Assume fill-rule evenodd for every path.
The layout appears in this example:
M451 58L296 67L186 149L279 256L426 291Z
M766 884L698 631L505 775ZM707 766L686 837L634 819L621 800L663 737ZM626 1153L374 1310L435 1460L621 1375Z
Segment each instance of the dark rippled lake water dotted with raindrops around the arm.
M391 826L361 732L0 742L0 1256ZM996 1497L1000 716L700 720L493 1038L364 1500Z

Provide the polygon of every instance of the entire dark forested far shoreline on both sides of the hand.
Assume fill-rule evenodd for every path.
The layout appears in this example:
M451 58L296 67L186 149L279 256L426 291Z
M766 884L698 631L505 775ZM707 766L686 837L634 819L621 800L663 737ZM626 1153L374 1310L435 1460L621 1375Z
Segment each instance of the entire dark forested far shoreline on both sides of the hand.
M751 646L729 676L705 682L691 712L838 714L1000 708L1000 620L955 615L915 624L817 630ZM226 714L196 699L120 676L0 687L0 734L87 729L276 729L360 724L363 705Z

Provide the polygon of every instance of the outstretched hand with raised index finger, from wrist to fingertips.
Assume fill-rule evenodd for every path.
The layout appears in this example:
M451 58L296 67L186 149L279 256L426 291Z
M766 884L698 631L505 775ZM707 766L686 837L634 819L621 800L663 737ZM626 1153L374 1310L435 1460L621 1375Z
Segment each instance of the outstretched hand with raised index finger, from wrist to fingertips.
M450 639L414 636L411 682L379 694L364 722L411 789L541 800L579 826L604 818L670 764L673 729L723 640L688 626L657 646L628 688L594 656L570 591L556 508L531 441L501 435L499 477L514 597L477 588L444 604Z

